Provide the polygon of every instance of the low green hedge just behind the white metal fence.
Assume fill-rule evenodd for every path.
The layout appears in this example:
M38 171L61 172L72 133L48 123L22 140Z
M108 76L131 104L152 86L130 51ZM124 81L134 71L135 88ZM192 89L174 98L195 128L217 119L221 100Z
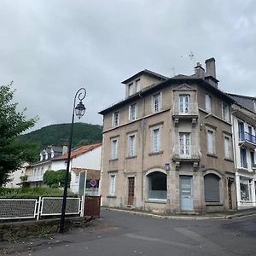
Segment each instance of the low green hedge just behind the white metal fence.
M0 198L29 198L38 199L39 196L62 196L62 189L51 189L51 188L19 188L19 189L8 189L0 188ZM78 197L77 194L68 192L69 197Z

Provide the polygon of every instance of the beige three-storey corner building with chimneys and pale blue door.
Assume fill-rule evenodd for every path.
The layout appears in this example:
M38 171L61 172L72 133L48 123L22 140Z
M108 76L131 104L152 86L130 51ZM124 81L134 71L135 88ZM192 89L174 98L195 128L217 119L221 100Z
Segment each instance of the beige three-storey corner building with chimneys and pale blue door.
M206 71L167 78L143 70L125 100L103 109L102 205L153 212L236 208L230 106Z

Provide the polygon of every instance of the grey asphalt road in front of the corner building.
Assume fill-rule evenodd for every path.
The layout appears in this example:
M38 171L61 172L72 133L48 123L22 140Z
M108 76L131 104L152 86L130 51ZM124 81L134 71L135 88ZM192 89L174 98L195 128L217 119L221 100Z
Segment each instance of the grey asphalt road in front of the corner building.
M12 252L38 256L256 255L256 216L183 220L103 209L102 218L86 229L23 241Z

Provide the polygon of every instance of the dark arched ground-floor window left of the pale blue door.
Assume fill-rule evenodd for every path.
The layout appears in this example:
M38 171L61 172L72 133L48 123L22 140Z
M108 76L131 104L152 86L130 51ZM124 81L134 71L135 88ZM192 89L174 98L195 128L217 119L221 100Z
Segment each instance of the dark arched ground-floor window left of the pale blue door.
M151 172L148 174L148 199L166 200L167 182L163 172Z

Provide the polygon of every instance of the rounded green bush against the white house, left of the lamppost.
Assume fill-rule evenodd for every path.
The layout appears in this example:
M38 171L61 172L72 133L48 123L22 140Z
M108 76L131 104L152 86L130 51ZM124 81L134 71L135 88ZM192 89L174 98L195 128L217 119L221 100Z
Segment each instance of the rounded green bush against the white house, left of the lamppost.
M49 188L52 187L64 187L66 177L66 170L58 170L58 171L46 171L44 172L44 183L49 185ZM70 183L71 175L68 175L68 183Z

